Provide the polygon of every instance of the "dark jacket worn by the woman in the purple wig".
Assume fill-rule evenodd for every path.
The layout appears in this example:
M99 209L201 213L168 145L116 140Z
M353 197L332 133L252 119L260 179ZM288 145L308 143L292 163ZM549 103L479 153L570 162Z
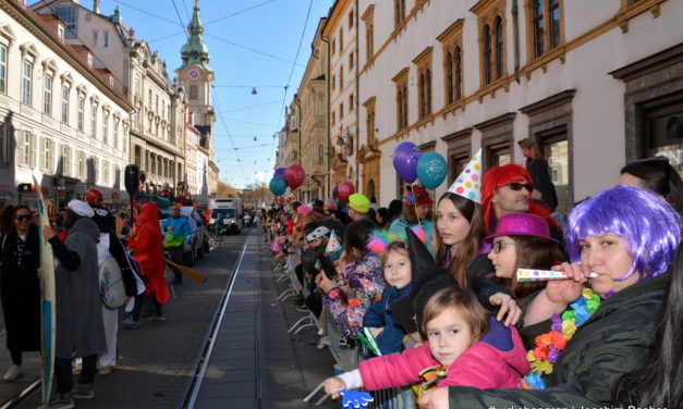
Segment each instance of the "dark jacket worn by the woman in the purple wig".
M614 383L642 365L652 343L657 311L669 274L633 284L602 300L600 308L566 344L552 373L546 376L547 389L451 386L450 408L611 408L610 392ZM517 322L517 327L522 329L520 335L528 348L534 346L533 339L550 331L550 320L526 327L522 320Z

